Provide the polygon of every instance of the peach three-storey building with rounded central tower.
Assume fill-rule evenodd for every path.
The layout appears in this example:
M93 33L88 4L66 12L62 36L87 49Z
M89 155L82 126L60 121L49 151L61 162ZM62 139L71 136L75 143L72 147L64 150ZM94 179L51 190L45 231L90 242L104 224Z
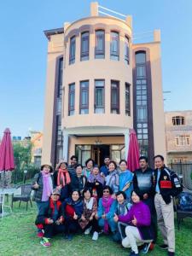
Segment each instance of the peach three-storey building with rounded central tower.
M72 154L82 164L91 157L101 165L104 155L119 162L131 128L151 164L154 154L166 155L160 31L153 42L133 44L131 16L103 10L91 3L90 16L44 32L44 162Z

